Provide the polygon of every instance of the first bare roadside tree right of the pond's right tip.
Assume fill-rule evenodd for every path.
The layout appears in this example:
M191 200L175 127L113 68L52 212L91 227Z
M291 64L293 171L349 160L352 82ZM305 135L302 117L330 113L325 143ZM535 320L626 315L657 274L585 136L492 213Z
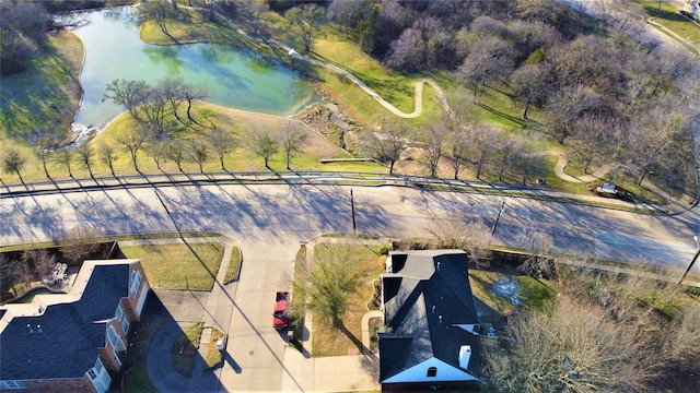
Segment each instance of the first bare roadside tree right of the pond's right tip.
M401 154L410 143L409 129L402 122L387 121L381 132L368 132L360 140L360 150L375 159L389 162L389 175L394 172L394 164L401 159Z

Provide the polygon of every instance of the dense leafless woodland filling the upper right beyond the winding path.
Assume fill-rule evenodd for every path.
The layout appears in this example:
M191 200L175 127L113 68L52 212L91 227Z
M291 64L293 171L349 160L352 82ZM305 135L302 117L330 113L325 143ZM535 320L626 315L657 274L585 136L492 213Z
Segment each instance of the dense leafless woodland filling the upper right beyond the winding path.
M471 100L479 106L482 95L497 91L524 103L523 119L537 108L535 128L573 152L584 171L592 164L614 163L611 179L623 169L638 183L652 175L682 190L695 182L690 130L698 110L689 99L700 87L697 59L681 50L642 46L635 36L643 21L617 16L615 2L587 4L602 17L544 0L335 0L327 16L388 68L453 72L470 92L451 104ZM497 164L499 180L504 165L527 177L529 135L480 138L483 127L472 114L451 115L445 123L456 124L445 133L450 138L440 153L457 163L456 172L467 158L479 177L489 158L502 162ZM434 130L418 132L434 141ZM463 150L465 138L470 152ZM485 139L489 142L479 143ZM385 159L394 164L390 155Z

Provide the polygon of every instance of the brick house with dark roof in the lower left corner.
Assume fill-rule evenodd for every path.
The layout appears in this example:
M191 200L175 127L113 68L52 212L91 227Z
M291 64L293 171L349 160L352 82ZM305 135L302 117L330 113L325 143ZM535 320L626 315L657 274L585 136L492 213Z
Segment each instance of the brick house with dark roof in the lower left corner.
M0 391L106 392L149 289L139 260L85 261L69 293L0 306Z

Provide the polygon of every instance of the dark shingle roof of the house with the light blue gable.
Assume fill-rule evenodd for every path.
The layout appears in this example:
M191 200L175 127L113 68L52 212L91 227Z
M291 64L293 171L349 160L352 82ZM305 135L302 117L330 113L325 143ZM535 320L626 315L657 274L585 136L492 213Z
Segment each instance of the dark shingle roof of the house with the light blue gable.
M478 337L454 324L478 317L464 252L410 251L393 273L383 275L388 333L380 335L380 380L430 358L459 367L459 347L471 346L469 373L479 369Z

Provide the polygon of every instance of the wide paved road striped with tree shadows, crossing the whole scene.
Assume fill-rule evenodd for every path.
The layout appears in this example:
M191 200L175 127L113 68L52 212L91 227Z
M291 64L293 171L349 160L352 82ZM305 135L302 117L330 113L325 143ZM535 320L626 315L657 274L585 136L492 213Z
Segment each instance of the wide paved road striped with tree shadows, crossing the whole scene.
M354 187L358 231L386 237L427 235L436 221L501 217L494 243L525 247L533 230L551 234L557 250L623 262L684 266L700 233L697 210L674 215L518 196ZM234 241L284 241L351 231L350 190L334 184L179 186L159 193L183 231L211 230ZM60 239L73 227L107 235L175 233L152 188L40 194L0 201L2 245ZM282 240L283 239L283 240Z

